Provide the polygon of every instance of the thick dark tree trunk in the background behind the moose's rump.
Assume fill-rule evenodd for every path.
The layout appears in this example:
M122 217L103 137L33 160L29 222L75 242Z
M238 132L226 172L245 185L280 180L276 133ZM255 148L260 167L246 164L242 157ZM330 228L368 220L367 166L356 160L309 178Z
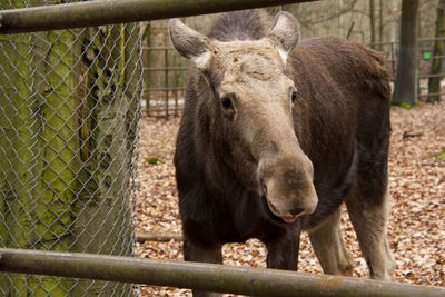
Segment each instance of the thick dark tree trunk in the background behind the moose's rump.
M417 102L418 4L418 0L402 2L400 46L393 103L404 107L412 107Z

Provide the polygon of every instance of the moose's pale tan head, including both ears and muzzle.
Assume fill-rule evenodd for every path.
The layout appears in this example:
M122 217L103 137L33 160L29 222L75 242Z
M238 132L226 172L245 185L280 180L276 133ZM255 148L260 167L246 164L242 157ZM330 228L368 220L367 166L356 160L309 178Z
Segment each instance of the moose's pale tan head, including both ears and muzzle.
M296 89L284 73L288 53L299 40L297 20L280 12L268 34L257 40L214 40L178 19L170 20L169 31L174 47L191 59L216 97L230 100L230 107L221 107L220 112L239 141L229 145L231 152L240 159L253 158L258 167L249 172L258 181L248 184L258 185L254 190L265 192L276 216L293 220L296 209L303 209L299 215L312 214L318 202L312 162L295 135L291 93ZM269 170L275 167L283 170Z

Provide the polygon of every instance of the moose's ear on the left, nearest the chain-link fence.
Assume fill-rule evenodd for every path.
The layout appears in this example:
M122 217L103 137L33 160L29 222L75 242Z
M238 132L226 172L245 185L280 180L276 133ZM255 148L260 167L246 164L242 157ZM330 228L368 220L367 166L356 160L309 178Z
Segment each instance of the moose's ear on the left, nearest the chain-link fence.
M171 19L168 31L179 55L192 60L197 68L205 69L210 60L209 39L184 24L180 19Z

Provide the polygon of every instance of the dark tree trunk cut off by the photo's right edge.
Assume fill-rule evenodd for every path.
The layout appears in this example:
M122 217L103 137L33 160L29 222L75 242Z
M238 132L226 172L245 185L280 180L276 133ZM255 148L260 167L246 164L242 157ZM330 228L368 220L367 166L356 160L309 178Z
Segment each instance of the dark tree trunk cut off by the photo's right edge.
M436 18L436 40L433 49L433 61L431 65L429 73L434 77L428 79L428 98L427 102L441 101L441 80L443 76L438 76L443 72L444 68L444 41L437 40L445 37L445 0L441 0L437 6L437 18Z

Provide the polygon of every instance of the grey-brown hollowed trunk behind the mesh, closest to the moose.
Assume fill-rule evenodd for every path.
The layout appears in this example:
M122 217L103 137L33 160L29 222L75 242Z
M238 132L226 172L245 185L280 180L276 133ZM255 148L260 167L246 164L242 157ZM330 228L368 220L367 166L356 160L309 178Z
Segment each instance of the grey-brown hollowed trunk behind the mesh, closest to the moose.
M80 171L83 188L76 201L78 232L73 250L77 251L131 255L128 197L140 95L140 87L135 88L134 81L138 82L141 73L138 31L134 29L134 37L127 37L127 27L139 28L136 24L88 28L83 39L83 44L88 44L81 75L87 92L80 108L85 166ZM130 38L136 41L127 43ZM139 71L127 75L135 68ZM97 296L98 291L112 291L120 296L129 295L130 290L128 285L95 281L87 291L78 284L72 293Z

